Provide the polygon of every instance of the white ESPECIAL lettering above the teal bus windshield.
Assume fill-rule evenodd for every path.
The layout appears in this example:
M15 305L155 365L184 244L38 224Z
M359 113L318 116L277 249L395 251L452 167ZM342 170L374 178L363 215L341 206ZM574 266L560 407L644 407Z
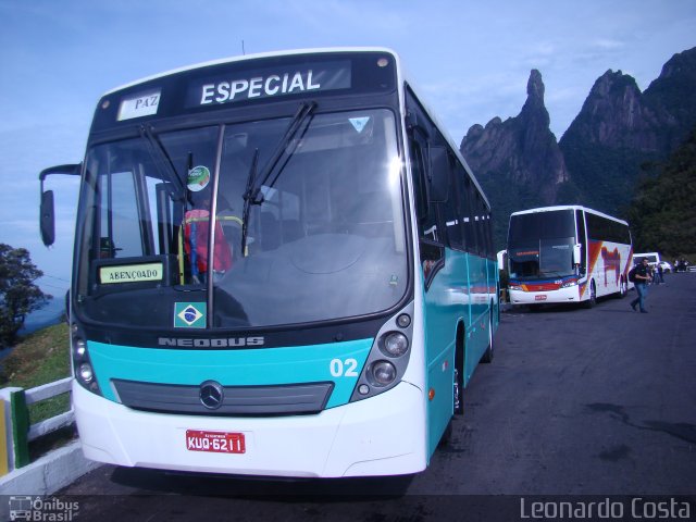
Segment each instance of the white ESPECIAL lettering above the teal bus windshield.
M275 96L289 94L295 90L321 89L321 84L312 83L312 70L307 73L285 73L283 76L272 74L268 77L257 76L250 79L236 79L207 84L201 88L200 104L225 103L236 98L259 98L261 96Z

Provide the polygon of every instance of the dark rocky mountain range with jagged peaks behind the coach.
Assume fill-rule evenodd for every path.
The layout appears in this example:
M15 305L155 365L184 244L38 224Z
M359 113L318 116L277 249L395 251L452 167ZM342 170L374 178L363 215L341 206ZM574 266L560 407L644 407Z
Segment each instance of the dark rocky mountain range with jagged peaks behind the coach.
M460 146L492 201L498 245L515 210L581 203L618 214L641 165L661 161L696 128L695 85L696 48L674 54L645 92L609 70L557 142L542 74L533 70L520 113L472 125Z

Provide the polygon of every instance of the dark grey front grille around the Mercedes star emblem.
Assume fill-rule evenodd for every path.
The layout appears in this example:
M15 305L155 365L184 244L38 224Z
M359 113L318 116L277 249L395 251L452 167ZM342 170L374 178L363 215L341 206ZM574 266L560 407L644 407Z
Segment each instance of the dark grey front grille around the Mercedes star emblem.
M200 386L112 381L121 402L137 410L204 415L293 415L324 409L334 383L224 386L222 405L206 408Z

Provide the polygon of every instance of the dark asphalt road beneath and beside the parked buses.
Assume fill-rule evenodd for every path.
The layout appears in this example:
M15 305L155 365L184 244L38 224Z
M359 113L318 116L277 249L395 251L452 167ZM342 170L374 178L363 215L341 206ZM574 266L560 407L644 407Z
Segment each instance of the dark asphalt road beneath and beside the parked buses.
M272 482L102 467L58 498L78 502L73 520L103 522L522 520L539 498L546 515L557 500L597 499L643 520L652 500L679 499L670 514L688 501L696 520L695 295L696 274L668 274L647 314L631 310L634 291L592 310L506 311L451 442L415 476Z

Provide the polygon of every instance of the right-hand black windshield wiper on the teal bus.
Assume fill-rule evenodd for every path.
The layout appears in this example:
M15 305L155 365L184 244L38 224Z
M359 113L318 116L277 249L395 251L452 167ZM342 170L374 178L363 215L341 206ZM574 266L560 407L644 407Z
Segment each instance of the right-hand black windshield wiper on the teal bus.
M300 107L298 107L297 112L293 116L293 120L290 120L290 123L285 129L283 137L278 141L273 156L271 156L258 176L257 164L259 161L259 149L257 149L253 154L251 169L249 170L249 175L247 177L247 188L244 192L244 211L241 217L241 254L245 257L247 247L247 232L249 229L249 213L251 211L251 206L263 203L264 196L261 191L261 187L266 185L266 182L269 181L273 172L277 170L277 173L275 174L273 181L266 185L269 188L273 188L275 182L277 182L278 177L281 176L283 169L285 169L285 165L295 153L300 139L307 132L307 128L309 128L309 123L311 122L314 109L316 109L316 103L314 101L300 103ZM301 128L303 128L303 130L298 136L298 130L300 130ZM278 167L278 162L284 157L285 161L283 161L283 164L281 164L281 166ZM261 179L259 183L257 183L257 177Z

